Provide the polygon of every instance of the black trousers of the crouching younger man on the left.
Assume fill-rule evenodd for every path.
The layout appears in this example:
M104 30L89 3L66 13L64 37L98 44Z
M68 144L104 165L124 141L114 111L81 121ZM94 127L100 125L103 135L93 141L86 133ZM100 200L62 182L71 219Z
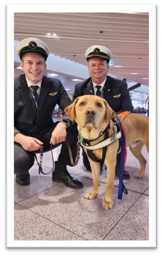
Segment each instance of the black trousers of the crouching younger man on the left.
M50 128L49 131L45 132L39 138L37 137L39 140L43 142L43 152L50 151L50 146L51 146L51 144L49 143L50 138L57 124L58 122L54 123L53 127ZM35 137L35 136L33 135L31 137ZM71 128L67 129L66 140L70 145L72 157L75 162L76 152L77 152L77 140L78 140L78 131L77 131L76 124L74 124ZM52 145L52 149L57 148L60 145L62 146L61 146L61 152L58 156L58 162L63 165L72 166L66 142ZM16 175L26 174L26 172L28 172L30 168L34 165L35 153L40 153L40 150L37 150L35 152L29 152L23 149L20 144L18 144L17 142L14 142L14 174Z

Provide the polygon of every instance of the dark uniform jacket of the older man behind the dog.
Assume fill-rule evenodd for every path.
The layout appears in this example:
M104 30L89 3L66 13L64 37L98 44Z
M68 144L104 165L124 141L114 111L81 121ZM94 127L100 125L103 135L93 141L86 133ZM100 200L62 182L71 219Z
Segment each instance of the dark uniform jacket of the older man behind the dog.
M133 105L130 99L127 83L107 76L103 98L106 99L109 106L117 113L124 111L133 112ZM91 78L75 85L72 101L78 96L91 94L94 95L93 83Z

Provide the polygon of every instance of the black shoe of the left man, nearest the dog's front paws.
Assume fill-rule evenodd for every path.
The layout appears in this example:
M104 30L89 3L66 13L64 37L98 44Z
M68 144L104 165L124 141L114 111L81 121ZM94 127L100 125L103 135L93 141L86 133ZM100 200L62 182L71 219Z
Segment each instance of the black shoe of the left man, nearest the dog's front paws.
M55 162L55 170L52 172L52 180L61 180L67 187L83 187L83 183L73 178L65 165Z

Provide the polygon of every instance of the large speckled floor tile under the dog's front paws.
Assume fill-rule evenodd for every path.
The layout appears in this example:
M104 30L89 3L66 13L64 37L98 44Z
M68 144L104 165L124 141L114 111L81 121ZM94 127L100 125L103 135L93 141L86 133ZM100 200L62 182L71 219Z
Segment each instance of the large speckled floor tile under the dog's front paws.
M94 200L84 199L92 188L92 180L82 179L83 189L71 189L60 183L46 189L19 204L32 212L88 240L102 240L123 217L139 194L130 192L118 200L118 189L114 188L114 208L104 210L102 201L105 184L101 184L99 195Z

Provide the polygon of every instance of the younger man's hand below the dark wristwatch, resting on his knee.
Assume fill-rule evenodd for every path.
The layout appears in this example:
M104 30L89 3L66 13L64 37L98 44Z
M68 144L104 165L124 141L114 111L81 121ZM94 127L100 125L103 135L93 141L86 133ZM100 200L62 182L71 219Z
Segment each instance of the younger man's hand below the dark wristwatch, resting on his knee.
M66 131L67 125L63 123L58 123L55 129L52 132L52 137L50 139L50 144L58 144L66 140L67 131Z

